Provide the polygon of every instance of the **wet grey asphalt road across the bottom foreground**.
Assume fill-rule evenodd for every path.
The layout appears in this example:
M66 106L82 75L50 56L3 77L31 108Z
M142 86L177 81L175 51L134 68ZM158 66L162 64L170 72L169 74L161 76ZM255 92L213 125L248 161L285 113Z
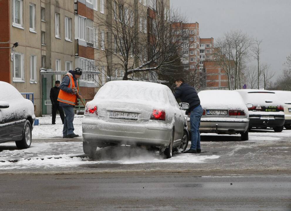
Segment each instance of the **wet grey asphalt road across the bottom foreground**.
M289 176L2 175L0 210L291 210Z

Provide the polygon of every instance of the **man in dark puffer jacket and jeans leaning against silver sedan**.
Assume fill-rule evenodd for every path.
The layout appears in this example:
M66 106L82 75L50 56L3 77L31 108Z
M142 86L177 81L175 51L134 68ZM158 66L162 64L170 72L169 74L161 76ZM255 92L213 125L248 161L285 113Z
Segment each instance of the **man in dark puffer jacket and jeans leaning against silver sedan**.
M200 99L193 86L186 84L184 79L179 78L175 81L177 89L174 93L175 98L180 98L182 103L189 103L190 125L191 125L191 147L184 153L200 153L200 120L203 109L200 105Z

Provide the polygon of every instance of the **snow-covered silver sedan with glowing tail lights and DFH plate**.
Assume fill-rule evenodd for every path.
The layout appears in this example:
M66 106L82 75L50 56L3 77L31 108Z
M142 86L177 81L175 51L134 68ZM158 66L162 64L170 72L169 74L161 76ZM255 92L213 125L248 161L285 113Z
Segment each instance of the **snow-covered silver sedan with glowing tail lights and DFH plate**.
M83 150L92 155L97 147L128 144L156 148L170 158L173 149L187 148L185 125L183 112L167 86L109 81L86 104Z

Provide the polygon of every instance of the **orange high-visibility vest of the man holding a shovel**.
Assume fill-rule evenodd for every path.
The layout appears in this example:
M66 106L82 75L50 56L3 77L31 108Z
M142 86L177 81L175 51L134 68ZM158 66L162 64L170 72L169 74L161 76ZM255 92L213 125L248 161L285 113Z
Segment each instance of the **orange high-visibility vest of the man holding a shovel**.
M69 76L69 78L70 78L70 84L69 84L68 87L72 89L73 87L75 87L75 82L74 82L74 79L73 79L73 75L71 73L69 73L69 72L66 75ZM77 82L77 90L79 92L78 82ZM67 104L70 104L70 105L73 105L73 106L77 106L78 105L77 95L75 95L73 93L67 93L67 92L65 92L65 91L63 91L61 89L60 89L59 95L57 97L57 101L60 101L62 103L67 103Z

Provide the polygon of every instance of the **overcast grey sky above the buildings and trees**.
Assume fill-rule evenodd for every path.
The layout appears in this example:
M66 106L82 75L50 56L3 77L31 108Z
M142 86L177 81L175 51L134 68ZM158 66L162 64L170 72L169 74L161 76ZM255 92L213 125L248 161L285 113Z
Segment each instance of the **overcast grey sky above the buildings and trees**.
M190 23L199 23L201 38L242 30L263 40L261 61L278 76L291 53L291 0L170 0ZM253 60L253 59L252 59ZM251 61L253 62L253 61Z

